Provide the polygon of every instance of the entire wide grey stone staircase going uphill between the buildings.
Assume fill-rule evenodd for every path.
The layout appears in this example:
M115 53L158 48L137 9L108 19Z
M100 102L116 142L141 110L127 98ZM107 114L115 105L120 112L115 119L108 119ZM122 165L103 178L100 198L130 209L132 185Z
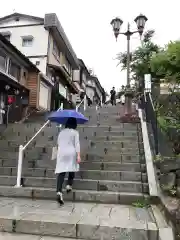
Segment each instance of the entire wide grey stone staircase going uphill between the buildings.
M169 227L159 209L137 207L149 196L141 126L120 123L119 113L121 106L86 111L89 122L78 127L83 162L63 207L54 201L55 161L50 160L59 128L49 124L25 150L23 187L15 188L18 146L45 117L39 113L10 125L0 140L0 231L64 240L160 240L160 226Z

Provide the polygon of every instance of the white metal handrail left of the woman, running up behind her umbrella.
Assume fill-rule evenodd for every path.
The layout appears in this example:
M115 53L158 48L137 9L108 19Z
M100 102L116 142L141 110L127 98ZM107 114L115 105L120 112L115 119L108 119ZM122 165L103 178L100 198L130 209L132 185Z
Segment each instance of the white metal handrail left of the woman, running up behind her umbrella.
M61 104L61 107L57 110L63 109L63 103ZM29 144L36 138L37 135L48 125L50 121L46 121L45 124L35 133L35 135L23 146L19 146L19 154L18 154L18 169L17 169L17 181L16 181L16 187L21 187L21 175L22 175L22 164L23 164L23 153L24 150L29 146Z

